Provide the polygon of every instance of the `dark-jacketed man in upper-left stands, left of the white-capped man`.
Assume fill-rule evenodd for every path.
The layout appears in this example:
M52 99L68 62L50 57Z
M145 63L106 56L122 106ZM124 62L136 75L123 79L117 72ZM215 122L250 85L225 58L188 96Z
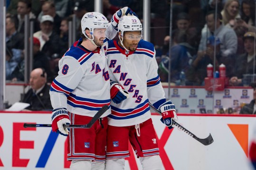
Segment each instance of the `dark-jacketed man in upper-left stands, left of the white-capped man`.
M28 15L29 21L34 22L34 32L38 31L38 21L36 16L31 12L30 0L19 0L17 7L17 14L14 16L17 20L17 31L24 34L24 20L25 15Z

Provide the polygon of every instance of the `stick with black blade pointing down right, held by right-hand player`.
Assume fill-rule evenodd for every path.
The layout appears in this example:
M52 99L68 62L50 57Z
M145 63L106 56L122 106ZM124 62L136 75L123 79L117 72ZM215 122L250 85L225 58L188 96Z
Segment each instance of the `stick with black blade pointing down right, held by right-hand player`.
M155 107L153 107L153 105L151 103L149 103L149 106L154 109L155 111L157 111L157 113L159 113L161 115L161 112L156 109ZM203 145L209 145L211 143L213 143L213 138L211 136L211 134L209 134L209 136L207 138L201 139L199 137L197 137L195 134L192 134L188 129L186 129L185 127L183 127L182 125L178 124L177 122L175 122L174 120L172 120L173 125L176 125L180 130L184 131L186 134L192 136L195 140L197 140L199 143L202 143Z

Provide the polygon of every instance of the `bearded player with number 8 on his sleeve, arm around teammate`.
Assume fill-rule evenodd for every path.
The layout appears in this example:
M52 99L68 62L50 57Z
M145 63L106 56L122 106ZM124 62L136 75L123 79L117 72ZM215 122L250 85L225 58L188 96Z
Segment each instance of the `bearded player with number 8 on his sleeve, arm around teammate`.
M110 94L109 71L106 62L106 38L117 33L117 24L123 15L132 14L123 8L113 21L98 12L89 12L81 20L82 37L76 41L59 61L58 76L51 84L53 107L52 130L68 135L67 160L71 170L104 170L107 118L110 107L89 129L69 129L63 124L85 125L111 99L121 102L127 97L119 85L112 86Z

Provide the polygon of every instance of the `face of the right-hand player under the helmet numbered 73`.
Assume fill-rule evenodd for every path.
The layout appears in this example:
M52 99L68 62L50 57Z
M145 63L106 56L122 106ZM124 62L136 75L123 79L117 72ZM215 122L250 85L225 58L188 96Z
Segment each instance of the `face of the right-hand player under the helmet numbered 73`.
M129 51L135 51L142 38L141 31L127 31L123 35L123 45Z

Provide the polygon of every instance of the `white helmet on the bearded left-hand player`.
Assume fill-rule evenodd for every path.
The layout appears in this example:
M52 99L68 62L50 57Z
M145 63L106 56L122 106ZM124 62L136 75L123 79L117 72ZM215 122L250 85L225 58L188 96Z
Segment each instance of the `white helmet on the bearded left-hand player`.
M81 19L81 28L82 33L85 34L85 28L90 30L90 34L93 36L95 28L107 28L108 27L108 20L105 16L99 12L87 12L83 18ZM93 36L94 39L94 36Z

